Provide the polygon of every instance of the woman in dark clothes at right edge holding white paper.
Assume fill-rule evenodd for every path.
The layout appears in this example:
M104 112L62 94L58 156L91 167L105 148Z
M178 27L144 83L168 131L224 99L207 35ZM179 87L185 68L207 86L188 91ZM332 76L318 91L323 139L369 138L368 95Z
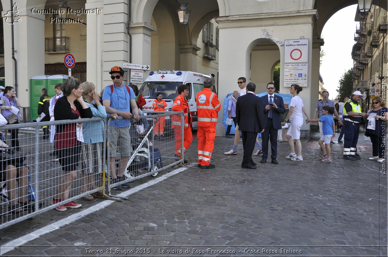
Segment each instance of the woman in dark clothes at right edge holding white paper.
M381 103L383 99L378 96L372 99L373 108L369 111L368 115L374 117L374 121L368 120L367 129L365 131L365 136L371 138L372 142L372 157L369 157L370 160L377 160L378 162L383 162L385 159L385 131L386 131L386 122L387 119L387 108L385 103ZM374 122L374 124L373 124Z

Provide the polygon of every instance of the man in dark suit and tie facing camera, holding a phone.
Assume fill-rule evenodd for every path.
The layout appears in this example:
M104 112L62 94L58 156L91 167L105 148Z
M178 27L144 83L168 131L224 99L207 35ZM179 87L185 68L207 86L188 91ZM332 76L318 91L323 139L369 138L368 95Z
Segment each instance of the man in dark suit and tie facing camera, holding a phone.
M267 162L268 157L268 140L271 141L271 159L273 164L278 164L276 160L277 156L277 130L282 129L282 122L280 120L280 114L284 113L283 98L275 95L274 83L269 82L267 84L267 92L265 96L262 96L263 101L263 113L264 113L264 133L262 133L262 146L263 157L260 163Z

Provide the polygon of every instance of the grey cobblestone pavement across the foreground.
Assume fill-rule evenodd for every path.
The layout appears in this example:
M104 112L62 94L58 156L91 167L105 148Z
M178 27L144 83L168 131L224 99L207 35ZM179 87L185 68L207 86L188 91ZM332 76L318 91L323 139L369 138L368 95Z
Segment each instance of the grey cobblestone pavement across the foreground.
M319 159L317 141L303 142L302 162L286 159L288 143L279 143L279 164L255 156L256 170L241 168L241 141L237 155L223 154L232 145L217 137L216 168L201 170L194 138L189 168L133 182L129 200L79 200L79 209L9 226L1 231L2 254L387 255L387 175L367 159L369 138L360 134L358 161L343 160L343 144L332 145L331 163Z

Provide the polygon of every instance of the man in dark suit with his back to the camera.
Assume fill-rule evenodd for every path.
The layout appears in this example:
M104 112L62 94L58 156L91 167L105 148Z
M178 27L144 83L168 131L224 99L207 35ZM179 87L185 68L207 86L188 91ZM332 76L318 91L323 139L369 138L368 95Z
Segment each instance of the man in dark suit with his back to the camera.
M256 169L252 153L255 148L257 133L264 131L264 114L262 99L255 95L256 85L246 85L246 95L240 96L236 103L236 120L242 134L244 157L241 167Z

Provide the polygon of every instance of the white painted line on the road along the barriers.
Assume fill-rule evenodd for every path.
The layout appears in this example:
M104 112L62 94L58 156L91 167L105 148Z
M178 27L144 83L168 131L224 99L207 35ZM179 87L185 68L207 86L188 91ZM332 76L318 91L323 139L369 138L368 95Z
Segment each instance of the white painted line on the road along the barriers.
M130 190L127 190L125 192L122 192L121 194L118 194L118 196L122 196L122 197L126 197L126 196L129 196L131 194L134 194L136 192L139 192L140 190L144 189L144 188L147 188L147 187L150 187L158 182L161 182L163 180L165 180L166 178L169 178L170 176L173 176L181 171L184 171L186 170L187 168L185 167L182 167L182 168L178 168L176 169L175 171L171 171L163 176L160 176L159 178L154 178L153 180L149 181L149 182L146 182L144 184L141 184L141 185L138 185L134 188L131 188ZM70 223L72 223L73 221L76 221L80 218L83 218L85 216L87 216L88 214L91 214L95 211L98 211L100 209L103 209L111 204L113 204L114 202L116 201L113 201L113 200L104 200L102 202L99 202L93 206L90 206L89 208L85 209L85 210L82 210L80 212L77 212L77 213L74 213L73 215L70 215L64 219L61 219L59 221L56 221L52 224L49 224L43 228L40 228L38 230L35 230L27 235L24 235L24 236L21 236L19 238L16 238L8 243L5 243L4 245L1 246L0 248L0 255L3 255L11 250L14 250L16 247L19 247L20 245L24 245L25 243L35 239L35 238L38 238L39 236L42 236L44 234L47 234L51 231L54 231L54 230L57 230L59 228L61 228L62 226L65 226L65 225L68 225ZM23 222L23 221L22 221Z

